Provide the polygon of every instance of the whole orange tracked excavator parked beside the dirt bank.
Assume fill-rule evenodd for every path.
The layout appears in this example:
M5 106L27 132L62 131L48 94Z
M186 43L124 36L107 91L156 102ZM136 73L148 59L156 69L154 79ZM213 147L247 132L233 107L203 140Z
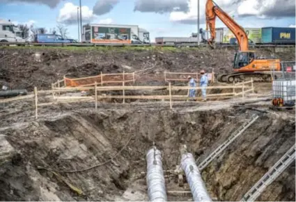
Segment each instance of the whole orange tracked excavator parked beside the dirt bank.
M256 58L255 51L249 50L249 39L239 24L231 18L217 3L207 0L205 4L205 17L207 31L210 29L211 37L208 40L210 47L215 48L215 22L216 17L221 19L235 35L239 44L239 51L235 53L233 61L233 70L231 74L221 74L217 77L219 82L233 83L244 81L246 78L253 78L254 81L272 81L270 71L280 71L281 65L279 59Z

